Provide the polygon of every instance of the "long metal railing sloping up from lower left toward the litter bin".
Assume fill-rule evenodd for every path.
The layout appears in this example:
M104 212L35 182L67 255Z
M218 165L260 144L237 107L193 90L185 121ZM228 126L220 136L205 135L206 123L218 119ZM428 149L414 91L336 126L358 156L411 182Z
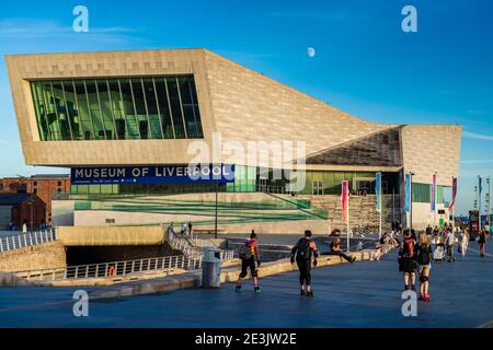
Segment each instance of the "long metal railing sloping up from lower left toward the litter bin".
M157 270L197 270L202 267L202 257L191 259L184 255L147 258L138 260L78 265L53 269L15 272L27 280L70 280L105 277L123 277L131 273Z

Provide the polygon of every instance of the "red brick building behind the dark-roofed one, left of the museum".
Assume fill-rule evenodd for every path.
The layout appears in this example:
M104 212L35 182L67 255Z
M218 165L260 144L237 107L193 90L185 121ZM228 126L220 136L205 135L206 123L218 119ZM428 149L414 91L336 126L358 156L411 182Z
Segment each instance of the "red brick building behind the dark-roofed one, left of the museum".
M45 212L42 222L51 223L51 199L55 192L70 191L69 175L33 175L31 177L4 177L0 179L0 194L33 194L44 203ZM20 210L24 210L21 206ZM30 209L31 212L31 209ZM25 218L24 213L20 213ZM28 213L31 217L31 213ZM13 219L13 218L12 218ZM36 221L37 222L37 221ZM34 224L34 223L33 223ZM34 228L37 228L34 224Z

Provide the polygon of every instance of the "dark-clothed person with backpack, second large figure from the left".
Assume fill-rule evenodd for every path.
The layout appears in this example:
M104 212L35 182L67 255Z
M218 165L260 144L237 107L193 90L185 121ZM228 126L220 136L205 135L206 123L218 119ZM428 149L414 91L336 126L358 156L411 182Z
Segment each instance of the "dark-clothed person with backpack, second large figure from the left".
M313 256L313 266L317 266L317 258L319 257L319 250L316 243L311 240L311 231L306 230L305 235L296 243L291 249L291 264L298 265L299 270L299 284L301 296L313 296L311 290L311 257ZM305 292L305 284L307 290Z

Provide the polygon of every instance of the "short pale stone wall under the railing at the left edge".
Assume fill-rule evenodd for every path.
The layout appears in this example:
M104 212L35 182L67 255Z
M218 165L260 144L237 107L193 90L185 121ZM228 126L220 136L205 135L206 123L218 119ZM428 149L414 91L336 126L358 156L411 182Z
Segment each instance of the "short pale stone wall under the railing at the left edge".
M65 246L60 241L0 253L0 271L16 272L66 266Z

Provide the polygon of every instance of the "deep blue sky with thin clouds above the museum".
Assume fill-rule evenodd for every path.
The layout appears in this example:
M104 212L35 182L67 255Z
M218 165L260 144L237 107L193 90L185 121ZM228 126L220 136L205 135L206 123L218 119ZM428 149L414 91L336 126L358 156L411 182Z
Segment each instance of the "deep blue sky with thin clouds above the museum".
M78 4L89 33L71 28ZM401 31L406 4L417 33ZM477 175L493 175L492 13L489 0L2 1L0 176L60 172L24 165L3 55L205 47L368 120L460 124L466 212Z

